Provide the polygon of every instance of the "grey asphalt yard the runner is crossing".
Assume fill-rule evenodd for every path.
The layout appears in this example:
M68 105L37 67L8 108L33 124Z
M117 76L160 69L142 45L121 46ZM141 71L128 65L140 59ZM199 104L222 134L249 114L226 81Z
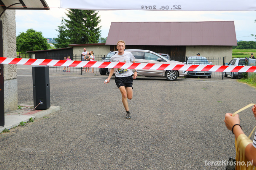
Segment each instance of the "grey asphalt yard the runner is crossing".
M33 104L32 71L18 69L18 103ZM224 115L255 103L236 80L139 77L125 119L114 77L50 74L51 105L60 110L1 134L0 169L225 169L205 166L235 156ZM241 113L245 132L255 125Z

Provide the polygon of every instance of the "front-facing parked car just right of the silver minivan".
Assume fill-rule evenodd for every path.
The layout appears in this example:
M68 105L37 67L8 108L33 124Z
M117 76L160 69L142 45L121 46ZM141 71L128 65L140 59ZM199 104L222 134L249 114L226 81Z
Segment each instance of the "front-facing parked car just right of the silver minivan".
M190 64L190 65L210 65L212 62L209 62L205 57L201 56L192 56L188 57L187 61L184 62L185 64ZM188 71L187 72L187 77L208 77L212 78L212 72L202 72L202 71Z

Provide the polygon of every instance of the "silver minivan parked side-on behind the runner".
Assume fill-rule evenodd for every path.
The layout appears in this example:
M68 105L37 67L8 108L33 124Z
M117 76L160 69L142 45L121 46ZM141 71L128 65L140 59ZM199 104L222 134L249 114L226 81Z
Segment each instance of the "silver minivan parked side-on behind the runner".
M125 50L131 52L135 57L136 63L146 63L146 64L182 64L179 61L170 61L165 57L149 50ZM118 51L115 51L118 52ZM148 76L148 77L166 77L169 81L174 81L178 77L186 76L187 71L178 70L147 70L147 69L137 69L138 76Z

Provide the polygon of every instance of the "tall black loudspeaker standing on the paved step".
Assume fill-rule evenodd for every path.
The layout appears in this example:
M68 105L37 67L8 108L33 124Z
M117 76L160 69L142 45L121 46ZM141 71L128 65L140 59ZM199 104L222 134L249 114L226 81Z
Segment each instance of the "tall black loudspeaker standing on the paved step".
M50 78L48 66L32 66L34 107L48 109L50 104ZM40 103L40 104L39 104Z

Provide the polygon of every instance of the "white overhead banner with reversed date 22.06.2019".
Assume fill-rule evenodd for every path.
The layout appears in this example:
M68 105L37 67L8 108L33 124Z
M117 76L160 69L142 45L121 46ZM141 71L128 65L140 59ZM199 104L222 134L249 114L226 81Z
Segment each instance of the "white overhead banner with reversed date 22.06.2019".
M83 10L255 11L255 0L61 0L60 8Z

